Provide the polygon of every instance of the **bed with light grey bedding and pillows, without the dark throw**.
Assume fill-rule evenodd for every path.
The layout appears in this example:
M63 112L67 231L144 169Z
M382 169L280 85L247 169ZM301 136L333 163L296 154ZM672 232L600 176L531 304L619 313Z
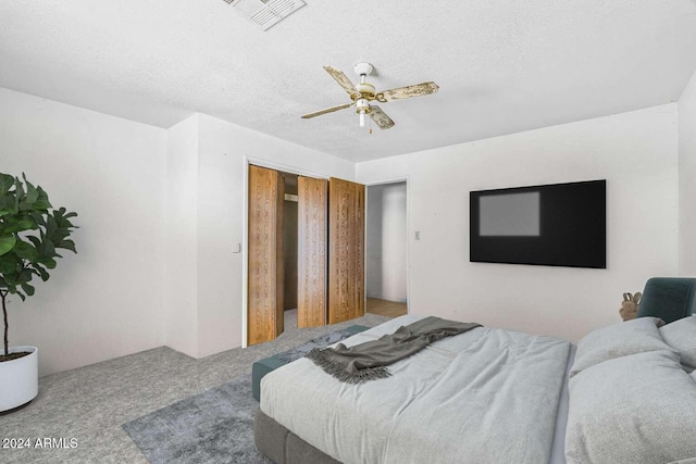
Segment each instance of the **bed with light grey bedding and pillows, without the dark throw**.
M480 327L358 385L298 360L262 380L257 447L277 464L696 462L696 317L660 323L605 327L576 351Z

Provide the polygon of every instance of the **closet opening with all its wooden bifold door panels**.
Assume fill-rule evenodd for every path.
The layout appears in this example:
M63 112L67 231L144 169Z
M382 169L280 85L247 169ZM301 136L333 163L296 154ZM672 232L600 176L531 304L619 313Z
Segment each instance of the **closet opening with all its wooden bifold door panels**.
M248 179L247 344L278 337L286 309L298 327L364 315L364 186L251 164Z

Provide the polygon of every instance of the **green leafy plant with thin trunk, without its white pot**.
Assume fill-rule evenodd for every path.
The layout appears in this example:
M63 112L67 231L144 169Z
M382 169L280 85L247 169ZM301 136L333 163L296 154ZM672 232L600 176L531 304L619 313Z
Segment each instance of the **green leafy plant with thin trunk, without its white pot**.
M48 195L32 185L24 174L22 179L0 173L0 298L4 316L4 358L9 359L8 309L9 294L22 300L34 294L34 276L46 281L55 267L55 252L63 248L77 252L69 237L76 226L64 208L51 206Z

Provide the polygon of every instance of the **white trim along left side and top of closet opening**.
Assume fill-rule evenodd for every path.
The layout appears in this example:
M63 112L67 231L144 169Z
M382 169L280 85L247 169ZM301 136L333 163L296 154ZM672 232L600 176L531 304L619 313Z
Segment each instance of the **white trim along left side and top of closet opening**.
M249 323L247 314L249 304L249 165L319 179L328 180L330 178L330 176L325 174L320 174L310 170L303 170L301 167L264 160L262 158L244 155L244 204L241 209L241 348L248 347L247 326Z

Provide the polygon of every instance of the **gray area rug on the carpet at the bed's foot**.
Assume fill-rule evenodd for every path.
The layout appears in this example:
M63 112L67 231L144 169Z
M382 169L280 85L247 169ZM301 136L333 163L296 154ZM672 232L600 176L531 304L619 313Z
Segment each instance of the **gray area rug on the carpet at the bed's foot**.
M281 353L291 362L312 348L344 340L355 331L336 330ZM271 463L253 443L251 376L146 414L123 425L151 464Z

